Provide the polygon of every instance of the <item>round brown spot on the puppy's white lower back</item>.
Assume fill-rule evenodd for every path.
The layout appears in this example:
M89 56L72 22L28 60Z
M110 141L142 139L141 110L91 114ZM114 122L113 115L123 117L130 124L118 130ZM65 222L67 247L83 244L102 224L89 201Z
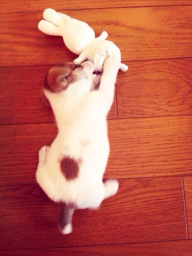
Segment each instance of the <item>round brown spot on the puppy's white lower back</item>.
M60 162L60 166L61 172L64 174L66 180L73 180L77 178L79 173L79 164L76 160L70 157L63 157Z

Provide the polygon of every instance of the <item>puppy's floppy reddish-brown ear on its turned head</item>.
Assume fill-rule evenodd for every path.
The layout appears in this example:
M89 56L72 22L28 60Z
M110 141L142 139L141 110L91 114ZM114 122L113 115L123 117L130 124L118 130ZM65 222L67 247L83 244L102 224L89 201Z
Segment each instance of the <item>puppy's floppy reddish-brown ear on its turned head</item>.
M44 88L54 93L59 93L67 88L67 76L70 75L67 67L53 67L49 69L44 83Z

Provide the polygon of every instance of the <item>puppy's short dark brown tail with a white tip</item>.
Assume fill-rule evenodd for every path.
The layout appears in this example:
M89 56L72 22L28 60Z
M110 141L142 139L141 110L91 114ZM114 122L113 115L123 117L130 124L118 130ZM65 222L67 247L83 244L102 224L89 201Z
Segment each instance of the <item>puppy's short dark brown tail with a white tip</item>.
M59 204L58 211L58 228L62 234L69 234L72 232L71 220L73 217L73 212L75 210L74 204L66 204L61 202Z

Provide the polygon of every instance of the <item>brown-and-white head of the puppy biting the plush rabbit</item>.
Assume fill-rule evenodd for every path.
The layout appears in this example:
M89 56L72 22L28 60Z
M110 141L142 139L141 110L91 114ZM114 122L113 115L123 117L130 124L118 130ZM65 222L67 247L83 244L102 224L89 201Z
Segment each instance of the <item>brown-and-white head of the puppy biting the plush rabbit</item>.
M44 89L67 96L88 93L100 82L100 79L95 79L95 74L93 75L94 69L91 61L85 61L81 65L66 62L54 66L46 75Z

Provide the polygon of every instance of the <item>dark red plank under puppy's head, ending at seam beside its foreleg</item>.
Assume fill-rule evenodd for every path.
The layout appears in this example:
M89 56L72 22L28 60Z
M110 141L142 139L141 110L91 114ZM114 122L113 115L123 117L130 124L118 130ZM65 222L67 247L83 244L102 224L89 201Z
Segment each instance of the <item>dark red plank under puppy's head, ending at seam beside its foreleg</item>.
M42 104L41 87L50 66L0 68L0 124L55 122ZM116 118L116 97L108 114Z

